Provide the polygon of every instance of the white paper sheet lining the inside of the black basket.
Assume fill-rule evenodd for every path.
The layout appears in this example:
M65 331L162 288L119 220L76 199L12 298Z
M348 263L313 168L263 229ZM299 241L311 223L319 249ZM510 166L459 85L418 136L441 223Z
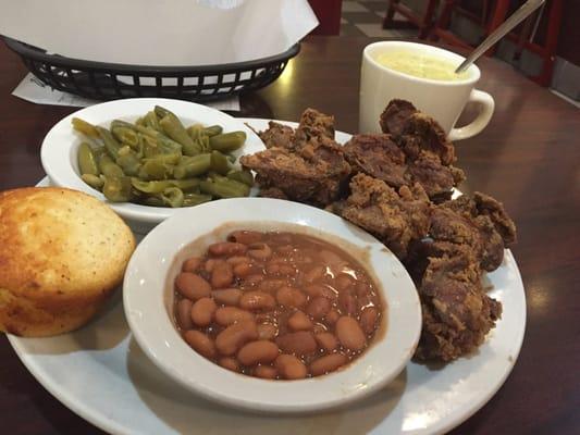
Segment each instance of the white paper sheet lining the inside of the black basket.
M140 65L279 54L318 25L307 0L0 0L0 34L50 53Z

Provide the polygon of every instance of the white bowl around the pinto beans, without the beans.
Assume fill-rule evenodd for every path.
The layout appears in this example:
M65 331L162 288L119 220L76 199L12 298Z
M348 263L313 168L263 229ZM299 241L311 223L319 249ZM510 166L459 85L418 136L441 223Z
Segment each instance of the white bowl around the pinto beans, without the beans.
M300 381L259 380L199 356L172 321L173 282L184 259L239 228L306 233L334 243L360 261L367 258L386 306L386 333L378 333L370 348L343 370ZM368 396L405 368L421 332L416 288L393 253L334 214L277 199L224 199L164 221L135 250L125 273L123 300L135 339L159 369L210 400L259 412L312 412Z

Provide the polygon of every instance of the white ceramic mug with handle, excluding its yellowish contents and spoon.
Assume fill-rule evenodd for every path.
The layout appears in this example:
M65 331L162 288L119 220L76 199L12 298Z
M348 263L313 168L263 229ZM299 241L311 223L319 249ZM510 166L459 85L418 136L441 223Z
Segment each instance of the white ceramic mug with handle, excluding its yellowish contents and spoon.
M359 127L361 133L380 133L379 117L394 98L412 102L420 111L433 116L447 133L449 140L467 139L480 133L493 115L492 96L474 89L480 78L472 64L466 78L457 82L435 80L399 73L379 64L375 59L388 51L425 53L459 65L465 58L441 48L405 41L382 41L367 46L362 52L360 72ZM454 128L468 101L479 105L480 112L468 125Z

